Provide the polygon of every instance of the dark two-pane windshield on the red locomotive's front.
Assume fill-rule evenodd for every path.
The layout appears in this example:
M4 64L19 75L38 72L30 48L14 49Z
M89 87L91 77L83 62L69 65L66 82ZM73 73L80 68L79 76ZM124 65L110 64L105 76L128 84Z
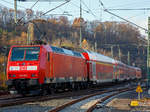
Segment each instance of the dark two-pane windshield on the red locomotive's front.
M38 60L40 47L14 47L11 53L11 61Z

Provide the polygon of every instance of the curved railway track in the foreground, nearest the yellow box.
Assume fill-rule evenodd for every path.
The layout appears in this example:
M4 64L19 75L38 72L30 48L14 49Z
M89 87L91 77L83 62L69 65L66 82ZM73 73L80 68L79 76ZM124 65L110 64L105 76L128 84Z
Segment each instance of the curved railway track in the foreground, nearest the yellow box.
M129 90L133 90L133 89L135 89L135 88L121 88L121 89L116 89L116 90L106 90L106 91L96 92L94 94L90 94L90 95L75 99L71 102L68 102L59 107L51 109L48 112L58 112L58 111L60 111L60 112L66 112L66 111L68 111L68 112L71 112L71 111L92 112L92 110L96 107L96 105L98 103L103 102L103 101L107 100L108 98L113 97L117 94L129 91ZM101 97L101 98L98 98L98 97ZM89 104L87 103L88 99L89 99ZM84 102L84 103L86 102L87 104L84 106L81 106L84 104L82 102ZM76 105L78 105L78 107L77 107L78 110L74 110L75 109L74 107L76 107ZM90 106L88 106L88 105L90 105Z

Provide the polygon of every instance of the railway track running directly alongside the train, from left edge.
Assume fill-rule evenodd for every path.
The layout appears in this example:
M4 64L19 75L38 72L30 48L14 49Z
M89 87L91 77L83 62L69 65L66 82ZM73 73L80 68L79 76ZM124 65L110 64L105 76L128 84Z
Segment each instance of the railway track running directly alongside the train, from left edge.
M66 98L66 97L72 97L72 96L78 97L80 95L86 95L86 94L90 94L96 91L102 91L102 90L91 88L87 90L80 90L77 92L73 91L73 92L56 93L56 94L46 95L46 96L27 96L27 97L23 97L21 95L4 95L0 97L0 107L20 105L20 104L24 104L28 102L60 99L60 98Z

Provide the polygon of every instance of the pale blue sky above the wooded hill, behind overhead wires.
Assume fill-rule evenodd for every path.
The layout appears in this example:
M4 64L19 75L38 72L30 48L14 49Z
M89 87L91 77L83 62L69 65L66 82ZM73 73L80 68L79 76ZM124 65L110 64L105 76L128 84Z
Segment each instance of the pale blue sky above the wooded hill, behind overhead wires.
M30 0L28 0L30 1ZM31 8L37 0L32 0L32 2L17 2L18 9L25 10ZM43 2L39 0L34 7L34 11L46 12L62 3L64 0L48 0L48 2ZM110 15L103 11L100 4L100 0L81 0L82 1L82 16L85 20L101 20L101 21L123 21L113 15ZM101 0L106 9L139 9L139 8L150 8L150 0ZM8 8L14 8L14 0L0 0L0 5L6 6ZM50 12L49 14L63 14L68 13L72 16L68 16L69 20L73 20L80 16L80 0L71 0L64 6ZM136 23L147 29L147 19L150 16L149 10L119 10L111 11L131 22ZM142 34L144 31L140 30Z

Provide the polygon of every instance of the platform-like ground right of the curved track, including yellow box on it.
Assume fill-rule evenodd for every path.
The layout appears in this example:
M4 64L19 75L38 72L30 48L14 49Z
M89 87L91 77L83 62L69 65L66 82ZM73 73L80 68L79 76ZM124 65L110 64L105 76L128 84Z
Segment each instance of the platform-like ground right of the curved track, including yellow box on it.
M125 92L106 101L104 107L93 112L150 112L150 94L147 88L142 88L140 99L135 90Z

